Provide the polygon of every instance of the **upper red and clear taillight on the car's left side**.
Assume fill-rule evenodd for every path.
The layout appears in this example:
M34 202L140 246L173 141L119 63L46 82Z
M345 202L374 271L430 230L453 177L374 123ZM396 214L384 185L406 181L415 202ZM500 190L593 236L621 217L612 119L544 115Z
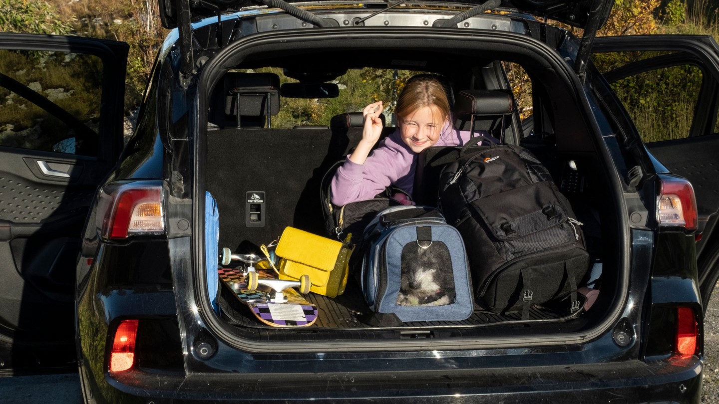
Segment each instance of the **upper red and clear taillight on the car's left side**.
M99 198L97 226L102 237L165 233L162 186L157 181L107 185Z

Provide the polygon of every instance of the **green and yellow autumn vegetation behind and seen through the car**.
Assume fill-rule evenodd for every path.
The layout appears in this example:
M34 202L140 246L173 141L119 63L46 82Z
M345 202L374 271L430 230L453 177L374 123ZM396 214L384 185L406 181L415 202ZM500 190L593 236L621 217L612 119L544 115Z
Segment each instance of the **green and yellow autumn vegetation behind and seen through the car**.
M572 29L581 36L580 29ZM162 39L167 33L160 25L156 0L0 0L0 31L35 32L64 35L80 35L119 40L129 43L130 54L127 68L126 111L137 107L145 90L148 75L152 68ZM610 19L599 35L631 34L708 34L719 37L719 0L616 0ZM626 63L638 55L625 55L623 60L617 57L598 59L598 64L608 69L620 63ZM531 114L531 83L523 70L516 65L508 66L513 90L518 98L523 116ZM620 98L635 105L631 109L633 119L640 133L654 133L655 127L664 125L656 122L656 116L685 116L691 105L686 94L674 93L676 102L663 102L641 97L637 86L677 86L692 91L698 86L700 75L687 71L668 71L666 76L657 78L654 83L627 83L616 86ZM322 123L339 112L361 108L367 99L390 99L400 89L411 72L388 74L386 71L365 70L344 78L350 94L342 100L299 100L287 99L283 104L286 116L278 119L286 124ZM667 111L669 109L669 111ZM646 114L646 111L652 111ZM323 118L327 116L328 118ZM676 123L672 122L676 127ZM666 126L664 126L666 127ZM643 129L644 128L644 129ZM683 128L677 128L669 137L686 134Z

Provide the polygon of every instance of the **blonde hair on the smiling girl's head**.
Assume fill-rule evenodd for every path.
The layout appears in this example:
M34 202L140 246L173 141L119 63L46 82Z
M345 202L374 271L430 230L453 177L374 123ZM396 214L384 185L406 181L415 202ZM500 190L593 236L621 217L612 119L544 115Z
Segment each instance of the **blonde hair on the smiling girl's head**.
M410 79L397 99L395 114L404 118L425 106L439 112L441 120L449 118L449 101L441 83L435 78Z

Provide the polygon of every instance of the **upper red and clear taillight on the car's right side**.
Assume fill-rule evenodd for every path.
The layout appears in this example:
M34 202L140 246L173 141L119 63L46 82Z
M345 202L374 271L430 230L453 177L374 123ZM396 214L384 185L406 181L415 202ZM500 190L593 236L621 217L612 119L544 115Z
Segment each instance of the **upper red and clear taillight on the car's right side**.
M692 184L684 178L661 175L656 220L662 229L697 229L697 200Z

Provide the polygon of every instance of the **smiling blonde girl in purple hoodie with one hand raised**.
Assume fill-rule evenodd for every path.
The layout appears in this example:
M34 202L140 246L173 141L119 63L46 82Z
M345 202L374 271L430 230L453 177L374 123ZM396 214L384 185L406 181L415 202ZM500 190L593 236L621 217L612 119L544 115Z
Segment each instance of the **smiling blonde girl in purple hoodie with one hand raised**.
M411 195L419 152L431 146L464 144L470 139L470 132L460 133L450 124L449 101L435 78L411 79L407 83L395 109L397 130L372 152L383 129L379 117L382 111L382 101L362 111L362 140L332 178L331 201L337 206L374 198L389 185Z

